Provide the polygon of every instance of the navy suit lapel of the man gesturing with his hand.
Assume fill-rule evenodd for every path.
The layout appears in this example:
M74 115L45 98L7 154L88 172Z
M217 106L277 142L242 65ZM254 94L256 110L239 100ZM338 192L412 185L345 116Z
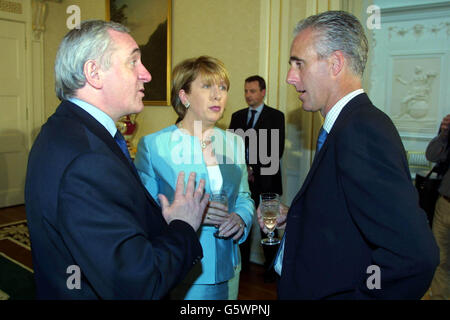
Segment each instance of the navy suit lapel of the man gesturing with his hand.
M86 128L88 128L93 134L95 134L100 140L102 140L108 146L108 148L120 159L120 161L128 166L135 178L145 190L147 198L149 198L149 200L155 206L158 206L153 197L148 193L147 189L142 184L142 181L138 176L136 170L134 170L134 168L131 166L130 162L123 154L117 143L114 141L114 138L111 136L108 130L106 130L106 128L89 113L70 101L63 101L60 105L60 108L63 113L76 117L84 126L86 126Z

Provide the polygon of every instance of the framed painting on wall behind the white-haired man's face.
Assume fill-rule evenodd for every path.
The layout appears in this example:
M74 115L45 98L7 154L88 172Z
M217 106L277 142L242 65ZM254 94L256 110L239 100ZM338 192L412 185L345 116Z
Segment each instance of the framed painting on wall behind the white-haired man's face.
M106 0L106 19L130 29L152 75L144 105L170 105L172 0Z

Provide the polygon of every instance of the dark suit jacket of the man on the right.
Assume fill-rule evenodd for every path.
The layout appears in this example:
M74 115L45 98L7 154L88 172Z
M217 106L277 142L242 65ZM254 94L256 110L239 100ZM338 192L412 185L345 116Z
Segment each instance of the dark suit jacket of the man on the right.
M419 299L439 251L400 137L366 94L341 111L287 218L280 299ZM367 281L380 268L381 289Z

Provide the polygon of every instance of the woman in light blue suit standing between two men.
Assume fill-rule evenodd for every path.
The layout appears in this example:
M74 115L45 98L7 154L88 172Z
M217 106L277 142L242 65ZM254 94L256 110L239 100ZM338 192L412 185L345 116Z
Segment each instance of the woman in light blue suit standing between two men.
M171 292L173 299L237 299L239 244L252 226L251 199L241 137L215 127L225 110L228 72L215 58L188 59L173 71L172 106L176 125L141 139L135 165L153 198L173 200L180 171L205 179L205 192L224 192L228 206L210 202L199 229L203 259ZM219 231L220 237L214 233Z

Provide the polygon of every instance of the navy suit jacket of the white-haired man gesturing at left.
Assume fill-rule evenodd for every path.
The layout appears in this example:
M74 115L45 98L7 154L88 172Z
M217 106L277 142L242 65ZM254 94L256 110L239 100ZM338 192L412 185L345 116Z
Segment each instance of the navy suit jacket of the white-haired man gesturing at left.
M68 101L30 152L25 202L41 299L162 298L202 256L196 232L167 225L109 132ZM67 286L71 265L81 289Z

